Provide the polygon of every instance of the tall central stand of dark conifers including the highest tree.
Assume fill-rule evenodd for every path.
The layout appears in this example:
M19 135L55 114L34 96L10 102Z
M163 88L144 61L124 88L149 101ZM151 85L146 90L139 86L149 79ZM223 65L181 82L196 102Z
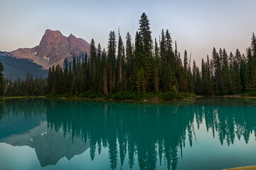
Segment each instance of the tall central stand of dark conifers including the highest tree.
M87 53L82 58L74 56L73 62L65 60L64 69L60 65L50 68L48 93L71 96L87 91L98 96L124 91L192 93L188 57L182 64L177 46L173 50L169 30L162 30L161 40L155 39L153 43L145 13L139 25L134 45L129 32L124 47L121 35L110 31L107 50L102 50L100 44L96 48L92 39L90 57Z

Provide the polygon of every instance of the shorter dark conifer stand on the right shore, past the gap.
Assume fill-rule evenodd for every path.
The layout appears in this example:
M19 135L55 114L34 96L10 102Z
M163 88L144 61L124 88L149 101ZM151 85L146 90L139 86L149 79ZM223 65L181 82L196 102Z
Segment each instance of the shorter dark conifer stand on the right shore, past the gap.
M246 55L237 49L235 54L213 47L212 58L202 59L201 72L196 62L192 71L193 91L203 95L227 95L250 93L255 96L256 88L256 38L252 33L251 46Z

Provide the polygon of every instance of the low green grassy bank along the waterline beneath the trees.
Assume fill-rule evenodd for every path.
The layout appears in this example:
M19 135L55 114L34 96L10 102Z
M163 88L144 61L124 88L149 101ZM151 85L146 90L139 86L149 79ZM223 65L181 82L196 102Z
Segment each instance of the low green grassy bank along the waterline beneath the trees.
M134 91L122 91L120 93L107 94L105 96L99 96L93 91L87 91L78 95L46 95L46 96L6 96L0 98L0 102L8 99L19 99L19 98L54 98L62 100L90 100L90 101L139 101L139 102L151 102L159 103L161 101L188 101L194 98L202 98L205 96L196 96L193 93L180 93L178 91L168 91L159 93L146 93L138 94ZM214 97L225 97L225 98L256 98L249 94L235 94L227 96L214 96Z

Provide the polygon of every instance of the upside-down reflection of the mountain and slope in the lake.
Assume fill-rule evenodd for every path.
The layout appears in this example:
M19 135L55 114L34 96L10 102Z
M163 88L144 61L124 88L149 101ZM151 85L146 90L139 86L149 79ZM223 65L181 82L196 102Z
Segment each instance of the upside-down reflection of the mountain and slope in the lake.
M27 120L24 115L5 115L0 125L0 142L34 148L42 167L55 165L63 157L70 160L90 147L89 140L73 138L72 130L63 135L62 129L56 132L48 127L46 115L31 115Z

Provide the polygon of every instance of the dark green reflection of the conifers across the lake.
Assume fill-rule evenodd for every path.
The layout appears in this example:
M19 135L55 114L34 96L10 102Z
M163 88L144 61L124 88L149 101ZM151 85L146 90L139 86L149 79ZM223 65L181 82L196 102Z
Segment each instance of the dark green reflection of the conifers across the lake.
M42 141L58 145L63 142L65 150L73 147L70 156L65 154L69 159L85 152L90 145L92 161L95 152L101 154L102 148L107 148L111 169L122 169L125 157L129 159L130 169L134 162L138 162L139 169L156 169L163 164L167 169L177 169L178 159L183 157L183 148L193 147L195 129L199 129L203 123L213 137L218 137L221 145L226 142L228 146L235 142L235 137L249 142L256 128L255 106L250 101L230 98L205 98L158 105L36 99L6 101L0 105L0 111L0 132L4 129L2 120L10 114L23 115L26 120L33 118L33 115L46 115L50 135L47 140L38 136L42 145ZM58 135L70 140L57 140ZM5 142L8 136L11 134L0 137L0 142ZM186 140L189 146L185 146ZM36 148L36 144L33 145ZM53 147L57 145L51 146L51 152L56 152L51 155L63 157L58 154L63 152L63 148ZM50 162L42 156L41 152L46 150L42 146L36 149L41 166L56 164L57 159ZM178 157L178 152L181 157ZM121 167L117 167L118 162Z

